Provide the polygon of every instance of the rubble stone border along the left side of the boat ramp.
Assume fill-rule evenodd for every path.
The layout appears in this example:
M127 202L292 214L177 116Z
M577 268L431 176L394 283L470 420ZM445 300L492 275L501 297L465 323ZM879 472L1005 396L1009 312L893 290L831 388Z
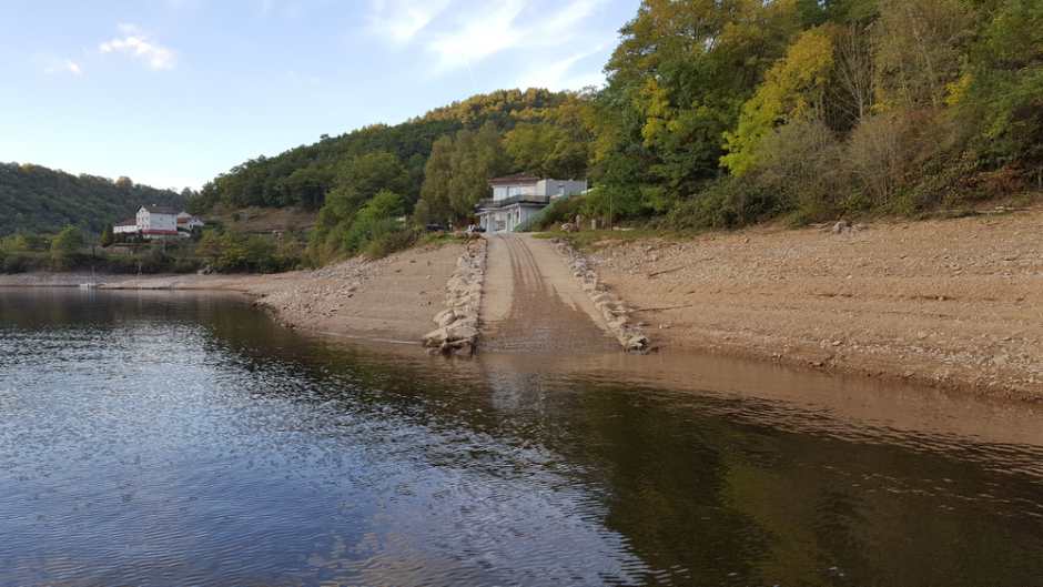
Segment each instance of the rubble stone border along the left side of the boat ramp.
M456 271L446 283L445 310L435 316L438 330L424 335L424 346L432 353L470 356L478 341L482 321L482 283L485 277L486 242L478 239L467 244L457 261Z

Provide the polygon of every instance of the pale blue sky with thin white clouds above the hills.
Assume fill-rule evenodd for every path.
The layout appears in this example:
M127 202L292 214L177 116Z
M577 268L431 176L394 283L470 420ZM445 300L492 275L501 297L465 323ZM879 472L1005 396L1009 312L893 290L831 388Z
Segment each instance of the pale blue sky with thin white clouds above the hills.
M0 2L0 162L198 190L477 93L600 85L639 3Z

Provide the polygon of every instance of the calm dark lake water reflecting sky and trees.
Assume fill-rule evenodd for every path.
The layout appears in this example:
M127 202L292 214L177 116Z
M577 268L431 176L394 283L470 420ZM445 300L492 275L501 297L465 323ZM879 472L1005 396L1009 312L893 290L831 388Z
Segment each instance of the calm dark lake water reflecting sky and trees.
M1043 417L0 290L3 585L1043 585Z

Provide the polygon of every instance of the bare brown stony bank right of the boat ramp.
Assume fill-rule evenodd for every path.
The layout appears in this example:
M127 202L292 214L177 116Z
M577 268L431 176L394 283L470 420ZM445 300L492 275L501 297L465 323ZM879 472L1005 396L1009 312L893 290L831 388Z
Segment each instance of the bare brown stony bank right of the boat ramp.
M652 345L1043 401L1043 212L586 247Z

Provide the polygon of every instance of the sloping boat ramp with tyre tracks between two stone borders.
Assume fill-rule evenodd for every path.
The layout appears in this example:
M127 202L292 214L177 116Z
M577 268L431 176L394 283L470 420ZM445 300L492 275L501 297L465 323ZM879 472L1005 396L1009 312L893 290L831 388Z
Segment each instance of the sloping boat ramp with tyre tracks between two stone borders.
M489 234L483 351L609 351L619 342L550 243Z

